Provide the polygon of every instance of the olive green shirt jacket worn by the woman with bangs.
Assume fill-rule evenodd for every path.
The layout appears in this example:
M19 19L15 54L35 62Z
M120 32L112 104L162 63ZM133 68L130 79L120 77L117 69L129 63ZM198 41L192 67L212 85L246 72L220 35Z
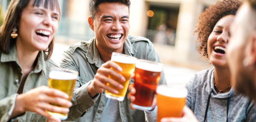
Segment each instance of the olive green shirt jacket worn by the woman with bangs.
M18 62L16 46L10 49L9 54L0 51L0 122L10 119L15 106L17 91L22 78L22 68ZM46 54L40 51L37 56L36 68L31 71L24 84L23 93L39 86L48 86L50 67L58 67L51 59L45 60ZM11 121L19 122L46 121L45 117L32 112L26 112Z

